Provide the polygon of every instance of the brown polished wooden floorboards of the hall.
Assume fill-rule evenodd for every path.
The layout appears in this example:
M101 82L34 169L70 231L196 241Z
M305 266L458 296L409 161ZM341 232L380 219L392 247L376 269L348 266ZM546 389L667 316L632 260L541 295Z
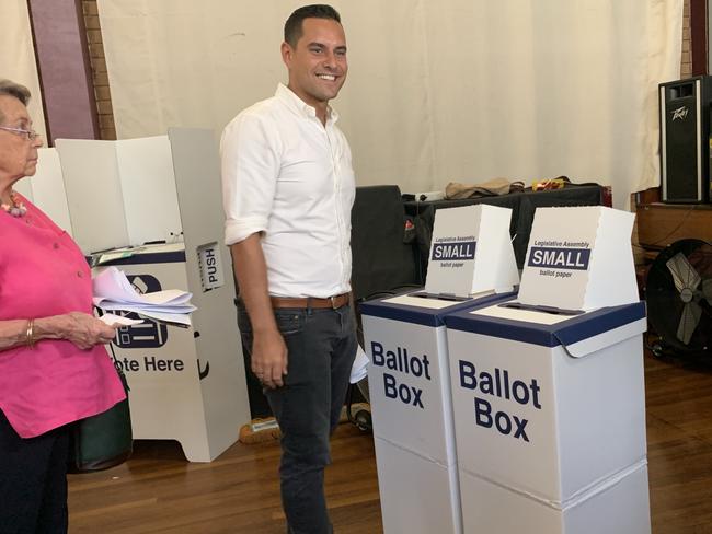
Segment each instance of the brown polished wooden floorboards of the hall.
M712 534L712 363L646 356L645 378L653 533ZM128 463L70 476L70 532L284 534L278 457L276 442L238 443L190 464L176 443L137 442ZM371 437L342 425L333 458L336 533L382 532Z

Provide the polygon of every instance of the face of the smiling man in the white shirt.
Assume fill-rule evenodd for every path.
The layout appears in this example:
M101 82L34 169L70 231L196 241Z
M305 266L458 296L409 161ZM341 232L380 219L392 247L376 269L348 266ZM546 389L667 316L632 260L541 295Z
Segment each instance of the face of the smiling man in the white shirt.
M346 80L346 36L330 19L305 19L296 48L282 44L282 58L289 70L289 89L313 107L335 98Z

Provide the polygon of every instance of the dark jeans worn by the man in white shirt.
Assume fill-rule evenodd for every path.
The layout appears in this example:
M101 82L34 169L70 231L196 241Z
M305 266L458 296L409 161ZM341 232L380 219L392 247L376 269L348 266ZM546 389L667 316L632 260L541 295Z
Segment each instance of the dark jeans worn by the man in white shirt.
M289 533L332 532L324 498L329 438L338 423L356 355L356 323L349 306L275 310L288 350L285 385L265 390L282 430L279 478ZM245 350L252 327L244 309L238 323Z

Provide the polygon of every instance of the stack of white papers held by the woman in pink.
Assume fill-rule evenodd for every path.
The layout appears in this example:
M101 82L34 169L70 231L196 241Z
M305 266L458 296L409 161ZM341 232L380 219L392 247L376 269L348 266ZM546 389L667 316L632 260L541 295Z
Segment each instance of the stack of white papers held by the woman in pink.
M104 311L122 310L162 323L191 326L192 293L166 289L139 293L126 275L116 267L107 267L93 278L94 305Z

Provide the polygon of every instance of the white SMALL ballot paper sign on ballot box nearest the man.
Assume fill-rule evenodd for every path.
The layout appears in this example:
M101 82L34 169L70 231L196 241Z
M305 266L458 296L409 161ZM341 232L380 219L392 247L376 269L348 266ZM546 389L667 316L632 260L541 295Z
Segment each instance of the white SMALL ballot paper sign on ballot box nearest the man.
M512 210L476 205L435 212L425 291L469 297L519 282L509 239Z

